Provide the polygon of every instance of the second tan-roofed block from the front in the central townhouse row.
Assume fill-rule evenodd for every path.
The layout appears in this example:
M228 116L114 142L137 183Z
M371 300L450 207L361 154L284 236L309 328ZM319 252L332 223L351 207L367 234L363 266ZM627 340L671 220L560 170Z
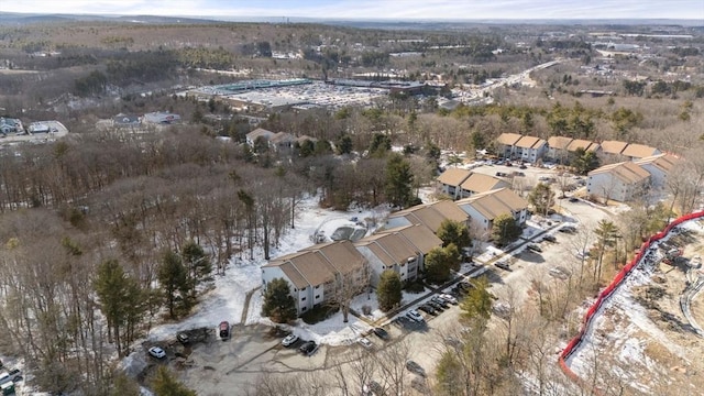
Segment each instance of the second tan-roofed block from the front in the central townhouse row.
M415 224L366 237L354 246L370 263L371 284L376 286L387 270L398 273L403 282L418 278L426 254L442 246L442 241L429 228Z

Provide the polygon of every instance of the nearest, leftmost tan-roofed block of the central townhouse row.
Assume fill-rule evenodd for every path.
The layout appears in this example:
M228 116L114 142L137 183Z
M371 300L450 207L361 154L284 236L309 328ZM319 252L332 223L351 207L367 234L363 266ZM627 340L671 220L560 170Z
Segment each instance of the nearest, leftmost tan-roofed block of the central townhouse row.
M296 253L276 257L262 266L264 290L275 278L288 283L298 315L330 301L342 288L363 290L369 287L366 258L350 241L318 244Z

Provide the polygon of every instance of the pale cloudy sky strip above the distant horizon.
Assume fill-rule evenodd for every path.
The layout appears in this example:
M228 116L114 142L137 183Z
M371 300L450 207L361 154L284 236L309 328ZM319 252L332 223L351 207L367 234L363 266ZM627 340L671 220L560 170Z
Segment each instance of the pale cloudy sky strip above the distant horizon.
M704 0L0 0L0 12L292 20L686 19L704 24Z

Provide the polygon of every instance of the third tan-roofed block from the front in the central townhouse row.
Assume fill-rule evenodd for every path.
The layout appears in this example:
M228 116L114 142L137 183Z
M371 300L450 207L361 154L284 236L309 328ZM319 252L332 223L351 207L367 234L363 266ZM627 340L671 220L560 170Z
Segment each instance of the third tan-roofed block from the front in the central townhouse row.
M446 220L453 220L465 226L469 224L469 216L451 200L440 200L427 205L418 205L413 208L391 213L386 218L385 229L394 229L411 224L421 224L437 232Z

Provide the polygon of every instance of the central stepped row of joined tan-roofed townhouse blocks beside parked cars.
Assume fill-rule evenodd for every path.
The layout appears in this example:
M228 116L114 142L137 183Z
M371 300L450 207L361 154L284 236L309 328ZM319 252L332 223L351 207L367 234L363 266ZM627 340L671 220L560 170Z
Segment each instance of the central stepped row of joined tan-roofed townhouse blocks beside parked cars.
M301 315L339 295L340 288L358 285L359 293L376 286L384 271L399 274L402 280L416 279L426 255L442 246L436 235L444 220L462 222L487 235L494 219L510 213L524 223L528 202L508 188L476 194L458 201L441 200L419 205L388 216L384 228L356 242L316 244L271 260L262 266L263 288L274 278L288 283Z

